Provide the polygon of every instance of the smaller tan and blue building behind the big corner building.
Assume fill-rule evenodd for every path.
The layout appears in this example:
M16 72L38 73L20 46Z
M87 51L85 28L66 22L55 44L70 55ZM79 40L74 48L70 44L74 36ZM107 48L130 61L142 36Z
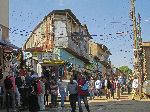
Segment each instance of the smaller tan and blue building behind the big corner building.
M99 74L101 77L111 76L111 63L109 61L109 55L111 55L108 48L99 43L89 42L90 59L92 60L91 70L94 70L94 74ZM91 65L90 64L90 65Z

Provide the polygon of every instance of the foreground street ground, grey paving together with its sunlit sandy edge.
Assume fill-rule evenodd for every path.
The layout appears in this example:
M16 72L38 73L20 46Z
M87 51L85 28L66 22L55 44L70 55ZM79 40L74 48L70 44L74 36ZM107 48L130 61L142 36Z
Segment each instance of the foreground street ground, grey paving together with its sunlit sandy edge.
M150 100L131 100L130 96L122 95L120 100L109 99L105 97L89 101L91 112L150 112ZM78 108L78 107L77 107ZM65 108L47 108L46 111L42 112L70 112L70 106L68 103L65 104ZM0 112L6 112L0 110ZM28 112L28 111L24 111ZM78 110L77 110L78 112ZM83 104L83 112L87 112Z

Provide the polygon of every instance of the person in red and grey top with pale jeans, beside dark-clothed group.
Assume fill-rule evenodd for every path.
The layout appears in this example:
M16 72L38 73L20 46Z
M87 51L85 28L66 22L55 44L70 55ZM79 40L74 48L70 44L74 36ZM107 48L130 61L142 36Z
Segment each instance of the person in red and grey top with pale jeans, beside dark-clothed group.
M45 110L45 104L44 104L45 82L46 79L44 76L42 76L38 80L38 84L37 84L38 104L39 104L40 111Z

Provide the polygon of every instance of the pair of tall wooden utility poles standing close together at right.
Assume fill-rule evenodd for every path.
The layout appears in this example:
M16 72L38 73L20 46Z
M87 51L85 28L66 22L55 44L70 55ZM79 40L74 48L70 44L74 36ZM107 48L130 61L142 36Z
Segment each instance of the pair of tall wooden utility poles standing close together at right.
M141 38L141 19L140 14L138 14L138 24L136 22L135 16L135 0L131 0L131 19L133 22L133 35L134 35L134 73L139 78L139 95L142 97L142 62L141 62L141 48L140 44L142 42ZM137 26L138 25L138 26Z

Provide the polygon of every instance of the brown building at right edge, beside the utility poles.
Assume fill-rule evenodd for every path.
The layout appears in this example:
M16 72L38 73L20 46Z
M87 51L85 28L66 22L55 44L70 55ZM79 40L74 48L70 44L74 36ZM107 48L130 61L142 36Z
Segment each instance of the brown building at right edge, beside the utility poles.
M150 42L143 42L142 46L143 48L143 72L144 72L144 79L150 80Z

